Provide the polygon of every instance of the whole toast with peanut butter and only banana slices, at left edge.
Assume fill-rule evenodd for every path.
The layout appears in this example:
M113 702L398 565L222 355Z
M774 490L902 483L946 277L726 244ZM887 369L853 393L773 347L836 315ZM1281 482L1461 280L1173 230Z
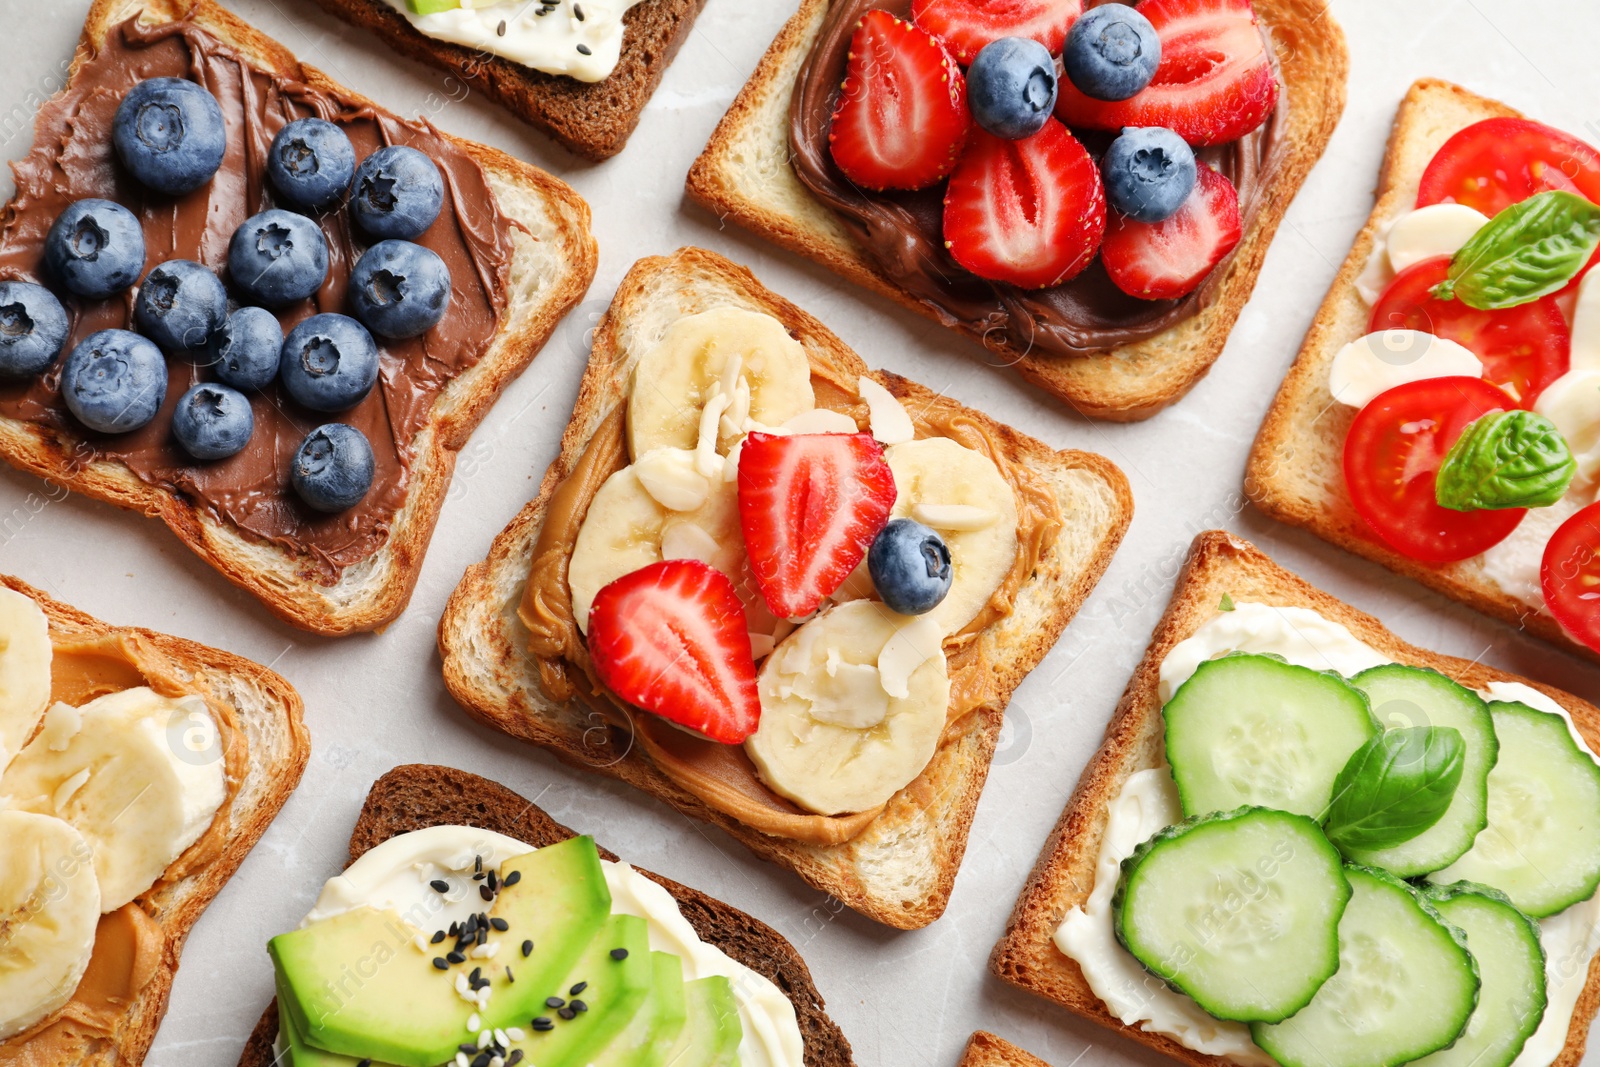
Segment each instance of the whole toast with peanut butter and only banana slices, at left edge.
M0 576L0 1064L141 1064L190 928L299 782L264 667Z

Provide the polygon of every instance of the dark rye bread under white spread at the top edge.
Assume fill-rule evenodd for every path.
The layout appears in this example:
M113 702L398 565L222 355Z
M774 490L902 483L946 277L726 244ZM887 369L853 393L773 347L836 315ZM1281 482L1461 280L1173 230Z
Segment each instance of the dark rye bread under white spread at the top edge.
M706 0L645 0L622 16L622 59L603 82L544 74L499 56L434 40L384 0L317 0L323 11L371 30L403 56L448 70L587 160L622 150L661 75Z

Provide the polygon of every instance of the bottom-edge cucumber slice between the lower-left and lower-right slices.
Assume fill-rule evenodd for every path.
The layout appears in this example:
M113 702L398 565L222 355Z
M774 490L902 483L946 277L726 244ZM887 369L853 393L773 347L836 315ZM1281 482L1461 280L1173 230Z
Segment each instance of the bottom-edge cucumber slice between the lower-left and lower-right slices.
M1283 1067L1395 1067L1435 1053L1467 1025L1478 968L1466 936L1384 870L1344 869L1339 971L1283 1022L1250 1035Z

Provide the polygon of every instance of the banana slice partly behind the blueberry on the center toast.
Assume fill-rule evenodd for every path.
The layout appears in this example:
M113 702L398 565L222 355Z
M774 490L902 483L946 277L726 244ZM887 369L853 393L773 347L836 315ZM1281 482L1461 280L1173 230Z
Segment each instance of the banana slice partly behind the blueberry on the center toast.
M1016 563L1016 494L992 459L947 437L894 445L885 458L899 491L896 518L914 515L918 506L925 517L957 517L947 528L930 523L950 549L952 569L950 592L930 614L955 633L984 609ZM982 523L971 522L976 512L984 512Z

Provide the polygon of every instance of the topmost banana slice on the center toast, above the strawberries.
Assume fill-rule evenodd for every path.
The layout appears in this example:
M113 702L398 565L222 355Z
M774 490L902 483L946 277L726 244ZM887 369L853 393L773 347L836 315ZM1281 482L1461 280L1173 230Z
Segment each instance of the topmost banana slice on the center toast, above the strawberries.
M629 456L694 448L701 413L714 394L723 453L746 419L779 426L816 406L811 363L781 322L741 307L685 315L634 368Z

